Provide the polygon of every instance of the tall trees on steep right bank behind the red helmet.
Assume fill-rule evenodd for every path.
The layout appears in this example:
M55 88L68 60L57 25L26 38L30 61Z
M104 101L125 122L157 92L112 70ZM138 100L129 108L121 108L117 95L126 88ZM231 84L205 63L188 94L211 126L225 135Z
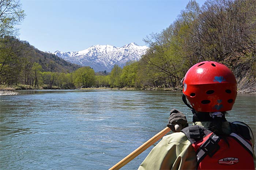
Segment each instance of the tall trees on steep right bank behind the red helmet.
M189 1L174 23L144 39L150 45L140 64L144 84L179 87L187 70L205 60L226 64L237 77L255 75L255 9L255 0L211 0L202 8Z

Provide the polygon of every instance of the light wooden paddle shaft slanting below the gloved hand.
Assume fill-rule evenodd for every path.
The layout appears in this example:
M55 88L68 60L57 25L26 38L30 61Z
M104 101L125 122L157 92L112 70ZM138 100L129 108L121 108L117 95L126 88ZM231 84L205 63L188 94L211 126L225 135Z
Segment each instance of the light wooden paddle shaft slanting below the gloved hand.
M118 170L124 165L126 165L128 162L130 162L132 159L137 157L139 154L141 154L144 150L148 149L151 145L153 145L155 142L157 142L159 139L161 139L165 134L167 134L171 129L169 127L166 127L162 131L160 131L158 134L156 134L154 137L150 138L147 142L143 143L140 147L135 149L132 153L127 155L124 159L119 161L116 165L111 167L109 170Z

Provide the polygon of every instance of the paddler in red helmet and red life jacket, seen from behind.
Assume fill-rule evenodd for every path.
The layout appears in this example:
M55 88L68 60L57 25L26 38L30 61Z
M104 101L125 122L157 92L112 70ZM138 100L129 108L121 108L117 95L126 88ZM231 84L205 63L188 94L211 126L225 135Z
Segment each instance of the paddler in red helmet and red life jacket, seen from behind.
M225 118L237 96L231 70L218 62L200 62L188 70L182 84L182 100L191 108L193 126L173 109L167 126L177 133L163 137L139 170L255 169L251 129Z

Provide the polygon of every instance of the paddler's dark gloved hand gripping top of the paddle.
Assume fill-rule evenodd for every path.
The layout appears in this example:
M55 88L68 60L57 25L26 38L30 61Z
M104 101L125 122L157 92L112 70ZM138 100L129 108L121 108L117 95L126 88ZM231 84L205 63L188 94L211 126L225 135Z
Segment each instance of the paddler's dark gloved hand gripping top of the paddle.
M186 116L174 108L170 112L167 127L169 127L173 132L180 132L181 129L188 127L187 122Z

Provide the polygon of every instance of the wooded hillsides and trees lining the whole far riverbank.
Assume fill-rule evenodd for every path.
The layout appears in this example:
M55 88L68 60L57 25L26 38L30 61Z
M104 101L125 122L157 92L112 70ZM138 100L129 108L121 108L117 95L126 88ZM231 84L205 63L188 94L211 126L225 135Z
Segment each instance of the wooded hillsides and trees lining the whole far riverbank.
M150 48L142 59L123 68L115 65L110 73L65 63L26 41L17 43L13 37L2 36L0 83L45 88L179 88L191 66L213 60L231 68L238 82L246 78L255 84L255 11L255 0L207 0L202 7L191 0L169 27L144 39Z

